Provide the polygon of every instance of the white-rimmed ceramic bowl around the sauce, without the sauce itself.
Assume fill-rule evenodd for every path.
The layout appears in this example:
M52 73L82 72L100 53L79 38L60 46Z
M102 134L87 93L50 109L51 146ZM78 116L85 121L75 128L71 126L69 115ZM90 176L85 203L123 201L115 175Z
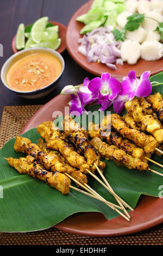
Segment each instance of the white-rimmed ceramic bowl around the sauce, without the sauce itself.
M53 54L55 57L57 57L62 64L61 74L52 83L48 84L47 86L45 86L41 89L33 90L30 92L29 91L21 92L20 90L14 90L14 89L10 88L6 81L6 74L7 74L9 66L12 63L15 63L16 59L20 59L20 57L28 56L29 54L33 54L36 52L39 52L39 53L48 52L48 53ZM44 96L48 95L57 87L60 77L64 72L64 69L65 69L64 59L62 58L61 54L58 53L57 51L54 51L49 48L41 48L41 47L40 48L29 48L29 49L17 52L14 55L12 55L9 59L7 59L7 61L3 64L3 67L1 69L1 80L5 87L7 87L9 90L16 93L17 95L27 98L27 99L38 99L40 97L44 97Z

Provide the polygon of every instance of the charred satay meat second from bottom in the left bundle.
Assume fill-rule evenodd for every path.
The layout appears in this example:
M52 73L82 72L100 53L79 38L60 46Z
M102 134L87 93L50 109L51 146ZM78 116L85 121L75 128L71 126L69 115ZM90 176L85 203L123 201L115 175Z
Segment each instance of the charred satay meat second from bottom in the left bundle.
M60 159L62 160L62 157L59 159L52 151L50 153L41 151L39 146L32 143L28 138L17 136L14 149L16 152L22 152L35 157L35 159L47 170L52 170L52 172L57 170L61 173L68 173L82 184L87 184L87 177L85 174L70 166L67 162L60 161Z

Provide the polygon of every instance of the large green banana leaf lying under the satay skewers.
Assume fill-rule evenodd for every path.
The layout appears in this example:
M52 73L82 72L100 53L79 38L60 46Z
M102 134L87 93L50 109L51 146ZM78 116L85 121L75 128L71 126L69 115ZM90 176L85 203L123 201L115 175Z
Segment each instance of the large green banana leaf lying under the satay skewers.
M152 81L163 81L163 73L154 76ZM163 95L163 86L153 87L153 92L158 91ZM99 105L93 105L88 110L95 111L98 108ZM114 113L112 107L109 110ZM56 120L56 123L60 123L60 119ZM36 129L29 130L23 136L31 139L33 143L37 143L40 137ZM82 193L71 190L69 194L63 196L43 181L27 174L19 174L3 159L9 156L15 158L24 156L22 153L15 153L14 142L14 138L10 139L0 151L0 231L27 232L47 229L77 212L101 212L107 220L118 216L117 212L102 202ZM153 159L163 164L162 156L153 155ZM106 162L104 175L109 184L133 208L142 194L159 196L159 186L162 185L163 180L161 176L152 172L139 172L116 166L113 161L103 161ZM163 170L155 164L149 166L163 173ZM116 203L114 197L101 184L91 176L88 179L93 189L106 200Z

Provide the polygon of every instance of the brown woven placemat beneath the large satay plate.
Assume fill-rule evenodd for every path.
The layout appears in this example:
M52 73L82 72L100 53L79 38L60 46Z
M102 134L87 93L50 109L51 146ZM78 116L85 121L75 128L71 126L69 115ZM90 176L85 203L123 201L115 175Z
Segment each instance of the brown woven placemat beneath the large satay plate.
M40 107L41 105L4 107L0 147L18 135ZM163 245L163 224L137 234L102 238L73 235L55 228L31 233L0 233L0 245Z

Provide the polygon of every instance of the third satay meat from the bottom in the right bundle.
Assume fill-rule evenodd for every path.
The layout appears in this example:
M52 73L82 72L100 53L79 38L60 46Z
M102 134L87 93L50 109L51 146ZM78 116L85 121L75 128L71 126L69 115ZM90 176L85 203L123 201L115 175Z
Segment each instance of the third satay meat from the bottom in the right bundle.
M126 124L126 121L124 121L118 114L111 114L111 126L119 132L123 138L130 139L135 145L143 148L146 153L154 153L155 148L159 145L153 136L146 135L136 129L130 129Z

